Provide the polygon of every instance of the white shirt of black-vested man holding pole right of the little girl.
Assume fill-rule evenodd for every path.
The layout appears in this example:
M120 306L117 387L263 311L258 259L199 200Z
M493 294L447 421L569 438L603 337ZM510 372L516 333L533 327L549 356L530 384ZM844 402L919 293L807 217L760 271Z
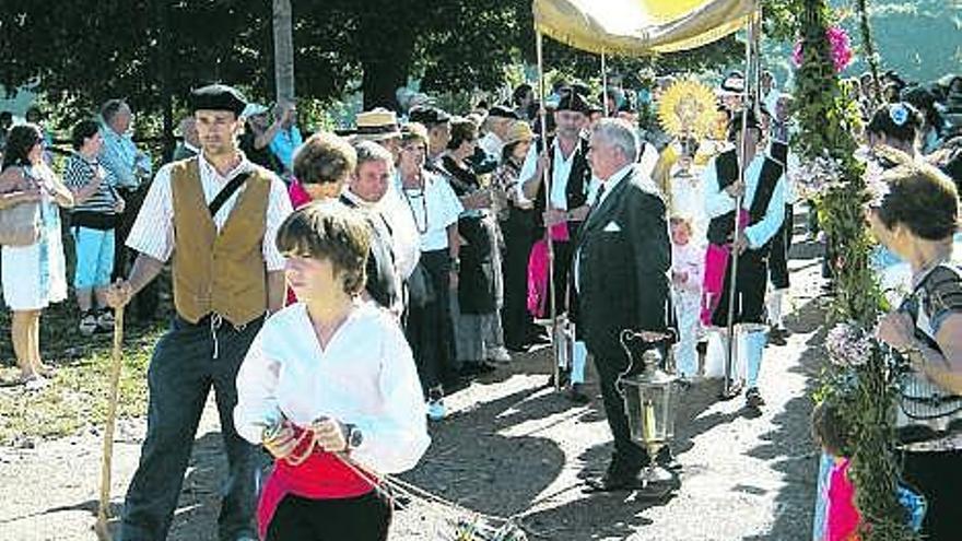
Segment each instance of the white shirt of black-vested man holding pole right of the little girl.
M765 163L765 155L758 154L752 163L749 164L744 172L744 198L742 200L743 209L751 209L754 201L755 191L759 188L759 175L762 173L762 165ZM735 198L727 191L718 187L718 174L715 170L715 161L713 157L705 170L702 173L702 179L705 183L705 212L708 219L722 216L735 210ZM778 228L782 227L782 221L785 220L785 175L783 174L777 184L772 199L769 200L769 207L765 215L761 221L749 225L744 228L744 236L748 239L749 248L758 249L764 246L772 238Z

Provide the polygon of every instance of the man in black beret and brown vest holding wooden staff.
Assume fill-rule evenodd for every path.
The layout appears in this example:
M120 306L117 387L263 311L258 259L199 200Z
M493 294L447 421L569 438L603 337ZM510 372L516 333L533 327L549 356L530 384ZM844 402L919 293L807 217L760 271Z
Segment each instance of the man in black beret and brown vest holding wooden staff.
M157 172L127 238L130 277L107 293L122 306L173 257L176 316L148 373L148 432L127 491L120 539L162 541L211 386L228 479L219 539L256 539L256 448L234 428L236 377L265 319L284 298L284 258L273 242L291 213L283 183L237 149L246 99L214 84L190 96L201 152Z

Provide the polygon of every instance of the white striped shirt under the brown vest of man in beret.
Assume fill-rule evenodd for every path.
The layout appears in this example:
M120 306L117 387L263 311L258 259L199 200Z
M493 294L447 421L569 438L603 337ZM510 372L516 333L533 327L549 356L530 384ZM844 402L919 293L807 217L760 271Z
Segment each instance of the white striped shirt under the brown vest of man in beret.
M243 155L237 167L226 175L218 173L218 169L207 161L203 153L197 155L197 161L198 169L200 170L200 185L203 189L203 200L207 204L214 200L232 178L242 173L251 173L260 168L262 173L267 173L270 176L270 197L267 204L267 223L261 250L263 251L263 260L267 263L268 271L283 270L284 257L278 251L274 238L284 219L293 212L291 198L288 196L284 183L273 173L267 172L267 169L249 162ZM148 191L143 200L140 213L133 222L130 235L127 237L127 246L129 248L145 254L159 261L169 259L176 244L174 238L174 193L171 186L172 165L167 164L157 172L153 184L151 184L150 191ZM218 211L214 216L214 225L218 232L223 230L224 224L227 223L237 198L245 189L246 187L242 186Z

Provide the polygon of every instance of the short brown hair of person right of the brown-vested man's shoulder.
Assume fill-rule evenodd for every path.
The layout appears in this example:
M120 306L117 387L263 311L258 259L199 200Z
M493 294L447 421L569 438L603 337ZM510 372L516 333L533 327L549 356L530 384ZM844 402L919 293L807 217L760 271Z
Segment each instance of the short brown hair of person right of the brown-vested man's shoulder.
M357 166L357 154L345 139L315 133L294 155L294 176L301 184L343 183Z

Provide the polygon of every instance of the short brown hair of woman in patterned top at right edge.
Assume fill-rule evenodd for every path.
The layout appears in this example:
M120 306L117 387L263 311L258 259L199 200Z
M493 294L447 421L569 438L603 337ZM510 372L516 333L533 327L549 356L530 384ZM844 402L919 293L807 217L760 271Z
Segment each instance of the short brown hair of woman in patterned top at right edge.
M889 193L878 208L878 216L887 228L901 223L927 240L945 240L955 234L959 192L946 174L928 164L905 162L882 178Z

